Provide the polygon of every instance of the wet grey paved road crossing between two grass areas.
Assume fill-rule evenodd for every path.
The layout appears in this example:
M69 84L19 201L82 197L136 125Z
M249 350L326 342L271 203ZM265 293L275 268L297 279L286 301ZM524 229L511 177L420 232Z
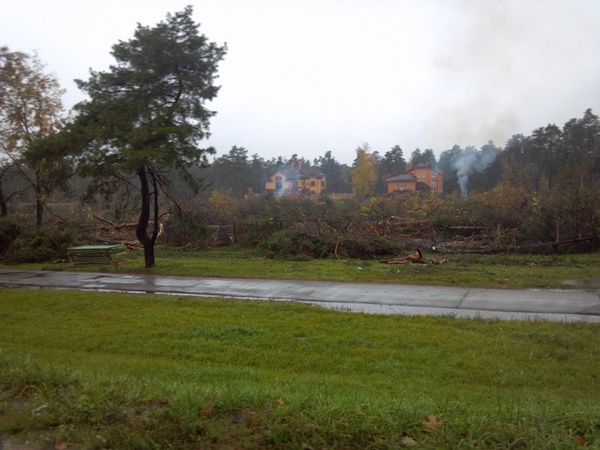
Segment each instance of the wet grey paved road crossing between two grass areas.
M0 286L293 301L378 314L600 322L600 290L480 289L2 269ZM0 291L0 309L1 296Z

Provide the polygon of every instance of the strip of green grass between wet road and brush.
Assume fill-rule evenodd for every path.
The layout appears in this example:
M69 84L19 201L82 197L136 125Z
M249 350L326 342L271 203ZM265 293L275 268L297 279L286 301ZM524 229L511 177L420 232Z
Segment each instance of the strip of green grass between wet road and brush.
M411 253L407 252L406 254ZM445 286L500 288L600 288L600 253L582 255L440 255L447 258L441 265L382 264L359 260L279 260L256 252L231 247L208 251L187 251L158 246L156 267L144 269L141 250L130 252L119 265L120 272L143 272L163 275L243 277L275 279L313 279L353 282L426 284ZM35 270L101 270L112 266L77 269L67 263L0 265L4 268Z

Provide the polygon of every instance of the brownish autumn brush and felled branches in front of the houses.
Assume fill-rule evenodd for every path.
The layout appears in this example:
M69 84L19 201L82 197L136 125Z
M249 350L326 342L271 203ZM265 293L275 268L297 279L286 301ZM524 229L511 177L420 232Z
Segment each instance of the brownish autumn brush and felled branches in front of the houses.
M593 190L532 196L501 183L468 196L414 193L362 201L273 195L236 201L213 192L190 214L198 223L226 227L231 240L271 258L372 259L432 246L455 252L548 252L556 241L582 236L592 238L585 247L560 251L590 251L600 245L593 241L600 229L598 203Z

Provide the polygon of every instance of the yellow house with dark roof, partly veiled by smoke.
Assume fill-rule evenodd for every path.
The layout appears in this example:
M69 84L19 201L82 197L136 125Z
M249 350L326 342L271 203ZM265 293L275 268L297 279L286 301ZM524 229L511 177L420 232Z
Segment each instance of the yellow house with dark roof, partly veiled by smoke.
M265 182L265 192L277 195L320 195L325 191L325 175L302 162L278 167Z

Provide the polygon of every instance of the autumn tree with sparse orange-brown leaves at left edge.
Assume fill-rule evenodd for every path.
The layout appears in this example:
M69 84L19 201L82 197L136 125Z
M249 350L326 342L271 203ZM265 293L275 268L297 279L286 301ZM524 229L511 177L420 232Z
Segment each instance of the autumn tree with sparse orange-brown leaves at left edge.
M0 210L6 215L2 177L13 173L33 192L36 225L42 225L46 198L71 173L69 159L47 147L63 125L64 111L58 80L44 72L37 58L0 47ZM2 157L3 155L3 157ZM27 192L23 192L27 196Z

